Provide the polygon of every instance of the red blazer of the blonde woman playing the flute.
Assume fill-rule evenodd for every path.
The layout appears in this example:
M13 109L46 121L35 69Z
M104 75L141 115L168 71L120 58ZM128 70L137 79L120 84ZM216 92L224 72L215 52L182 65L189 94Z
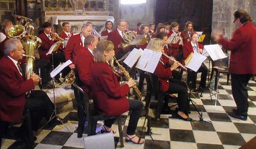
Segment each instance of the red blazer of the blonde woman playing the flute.
M172 77L172 71L170 69L170 63L168 58L161 57L154 72L160 80L160 90L168 91L169 88L169 78Z

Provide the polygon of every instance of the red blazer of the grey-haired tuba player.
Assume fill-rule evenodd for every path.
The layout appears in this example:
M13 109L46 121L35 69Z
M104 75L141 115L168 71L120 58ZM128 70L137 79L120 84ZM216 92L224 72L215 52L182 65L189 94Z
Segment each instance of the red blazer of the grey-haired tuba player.
M32 79L24 81L15 64L4 56L0 60L0 119L18 122L22 119L25 93L35 88Z

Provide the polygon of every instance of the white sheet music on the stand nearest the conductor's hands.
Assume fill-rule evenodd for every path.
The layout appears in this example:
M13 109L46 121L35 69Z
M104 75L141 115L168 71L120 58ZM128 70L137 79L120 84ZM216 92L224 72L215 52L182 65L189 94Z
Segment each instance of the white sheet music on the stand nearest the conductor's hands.
M218 44L205 45L204 48L214 61L227 57Z

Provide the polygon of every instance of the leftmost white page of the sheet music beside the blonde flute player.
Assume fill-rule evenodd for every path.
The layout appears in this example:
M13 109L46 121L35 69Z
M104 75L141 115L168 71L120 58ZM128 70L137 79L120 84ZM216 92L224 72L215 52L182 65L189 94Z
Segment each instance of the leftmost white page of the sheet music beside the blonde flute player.
M130 68L134 66L134 64L137 62L138 58L140 58L143 50L142 49L136 49L134 48L132 52L127 56L127 58L124 60L124 63L128 65Z

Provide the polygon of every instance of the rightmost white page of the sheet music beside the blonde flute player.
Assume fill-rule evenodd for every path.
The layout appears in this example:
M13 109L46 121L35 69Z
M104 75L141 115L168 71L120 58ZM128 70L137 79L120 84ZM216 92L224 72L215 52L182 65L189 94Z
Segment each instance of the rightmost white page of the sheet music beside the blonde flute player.
M144 68L144 71L154 73L161 56L162 56L161 52L152 52L150 60L148 61L146 68Z

